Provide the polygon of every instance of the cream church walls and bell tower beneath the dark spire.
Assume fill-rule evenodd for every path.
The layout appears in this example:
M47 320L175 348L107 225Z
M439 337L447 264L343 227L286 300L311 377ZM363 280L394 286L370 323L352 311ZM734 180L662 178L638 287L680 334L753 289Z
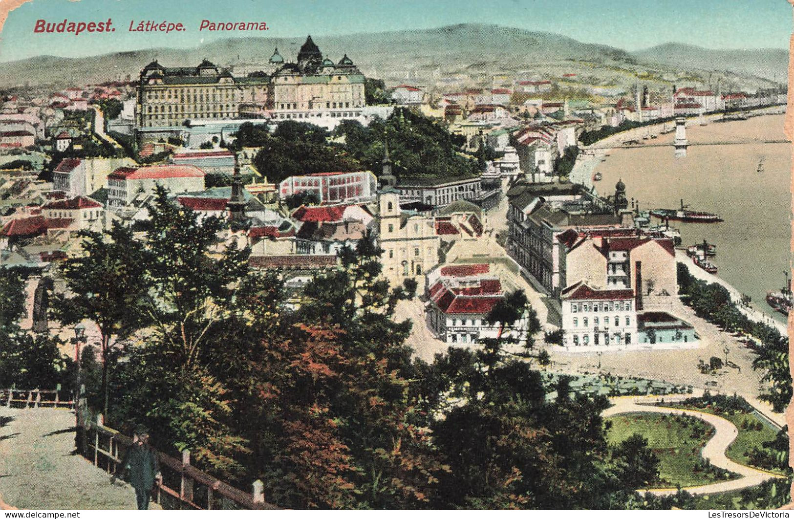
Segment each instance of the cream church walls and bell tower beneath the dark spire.
M384 276L393 286L404 279L415 279L422 286L422 276L438 263L441 238L434 217L403 213L399 194L386 189L378 197L378 244Z

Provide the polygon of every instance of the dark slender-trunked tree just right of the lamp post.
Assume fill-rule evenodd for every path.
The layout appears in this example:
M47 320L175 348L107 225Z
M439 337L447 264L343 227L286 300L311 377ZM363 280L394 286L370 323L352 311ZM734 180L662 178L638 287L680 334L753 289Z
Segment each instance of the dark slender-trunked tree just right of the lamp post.
M110 350L145 322L142 302L145 254L130 229L114 224L108 233L81 231L83 256L64 261L61 272L68 293L56 296L52 313L63 325L93 321L101 339L102 411L107 416Z

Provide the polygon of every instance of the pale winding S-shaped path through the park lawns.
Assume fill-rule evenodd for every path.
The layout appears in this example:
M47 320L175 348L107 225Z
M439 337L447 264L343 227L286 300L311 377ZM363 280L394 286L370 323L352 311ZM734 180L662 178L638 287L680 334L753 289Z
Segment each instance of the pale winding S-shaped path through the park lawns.
M692 395L686 395L689 397ZM681 397L681 398L686 398ZM725 469L727 471L734 472L742 476L739 479L732 479L730 481L723 481L723 482L716 482L711 483L709 485L700 485L700 486L688 486L685 487L683 490L688 491L690 494L719 494L720 492L727 492L729 490L741 490L743 488L748 488L750 486L760 485L762 482L765 482L768 479L775 479L781 478L782 476L773 474L767 471L761 471L757 468L753 467L746 467L740 463L736 463L725 454L726 449L728 446L736 439L738 436L738 429L736 426L727 421L723 417L718 417L715 414L709 413L701 413L700 411L692 411L689 409L673 409L672 407L660 407L660 406L642 406L641 403L655 403L657 402L658 397L618 397L618 398L611 398L611 402L614 404L611 408L607 409L603 412L604 417L611 417L615 414L623 414L623 413L665 413L665 414L687 414L691 417L699 418L707 422L710 425L714 426L715 432L714 436L711 437L711 440L708 441L707 444L703 446L703 451L701 452L703 458L707 458L711 460L711 464L715 467L719 467ZM665 400L670 402L674 398L669 396L665 397ZM651 494L656 495L673 495L676 494L678 489L676 488L666 488L666 489L652 489L648 490Z

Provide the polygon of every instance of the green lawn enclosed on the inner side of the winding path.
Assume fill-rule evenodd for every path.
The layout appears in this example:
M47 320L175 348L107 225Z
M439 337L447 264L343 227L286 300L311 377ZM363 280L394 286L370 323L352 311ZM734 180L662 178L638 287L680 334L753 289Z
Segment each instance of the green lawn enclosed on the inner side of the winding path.
M648 440L659 458L659 477L653 487L705 485L733 479L717 467L703 467L700 451L714 435L714 428L695 417L661 413L626 413L610 417L610 444L619 444L635 432Z

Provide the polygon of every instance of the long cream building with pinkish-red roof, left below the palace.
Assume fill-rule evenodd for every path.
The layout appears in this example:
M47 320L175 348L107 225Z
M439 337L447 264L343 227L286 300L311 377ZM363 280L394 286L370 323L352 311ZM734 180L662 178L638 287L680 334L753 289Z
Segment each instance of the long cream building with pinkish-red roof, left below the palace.
M108 175L107 203L110 208L127 206L134 199L164 186L171 194L204 190L204 171L191 165L119 167Z

